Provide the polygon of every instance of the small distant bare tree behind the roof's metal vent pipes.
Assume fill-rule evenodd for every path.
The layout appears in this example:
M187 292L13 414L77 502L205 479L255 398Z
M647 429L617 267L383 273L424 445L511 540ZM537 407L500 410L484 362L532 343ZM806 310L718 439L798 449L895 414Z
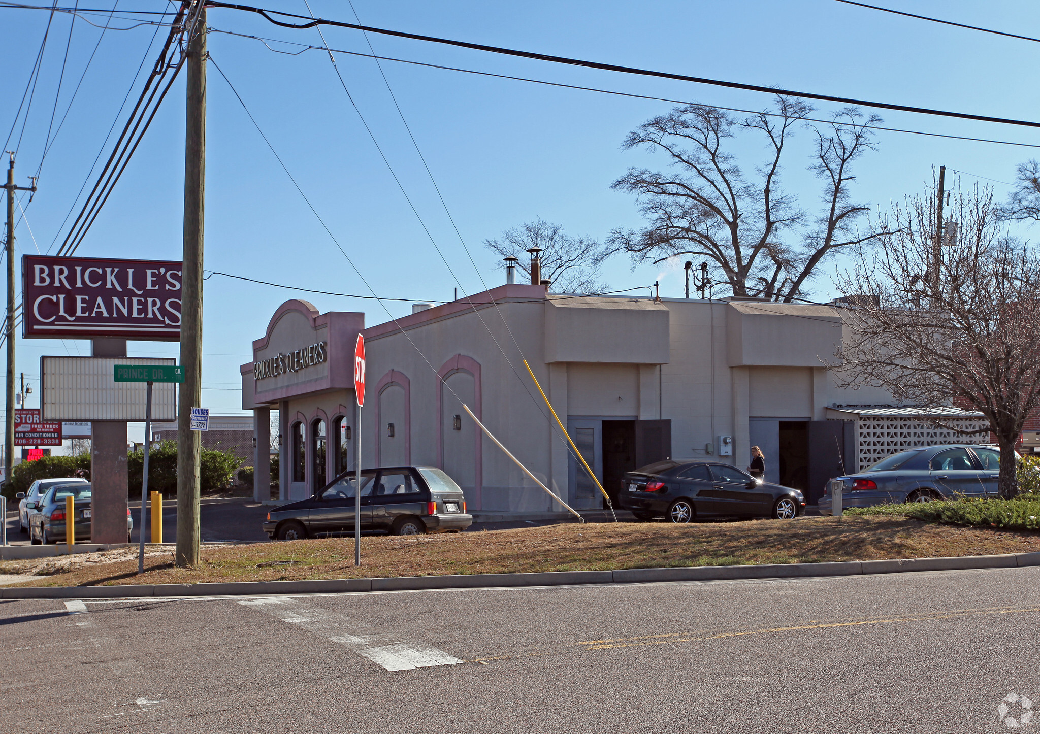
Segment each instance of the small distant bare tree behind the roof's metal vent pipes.
M599 280L599 267L607 256L591 237L571 237L563 225L545 219L527 221L502 233L501 239L486 239L484 245L503 258L518 258L517 267L530 279L531 247L541 247L542 278L553 290L566 293L602 293L609 286ZM503 264L504 266L504 264Z

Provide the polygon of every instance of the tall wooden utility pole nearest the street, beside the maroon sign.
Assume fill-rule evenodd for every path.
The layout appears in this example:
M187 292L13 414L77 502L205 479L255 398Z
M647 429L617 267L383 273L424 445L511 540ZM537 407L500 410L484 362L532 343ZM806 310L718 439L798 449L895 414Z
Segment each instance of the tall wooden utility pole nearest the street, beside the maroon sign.
M181 385L177 416L178 567L199 563L199 447L191 409L202 405L202 265L206 194L206 7L185 16L188 30L187 120L184 140L184 265L182 270Z

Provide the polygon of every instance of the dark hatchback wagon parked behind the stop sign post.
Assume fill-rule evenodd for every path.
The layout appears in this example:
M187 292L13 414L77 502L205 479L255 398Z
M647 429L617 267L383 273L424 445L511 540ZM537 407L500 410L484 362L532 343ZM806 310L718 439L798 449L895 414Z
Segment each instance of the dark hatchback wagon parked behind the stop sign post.
M298 541L354 532L358 474L343 472L313 496L267 513L268 538ZM462 489L436 467L361 470L361 529L394 535L465 530L473 524Z

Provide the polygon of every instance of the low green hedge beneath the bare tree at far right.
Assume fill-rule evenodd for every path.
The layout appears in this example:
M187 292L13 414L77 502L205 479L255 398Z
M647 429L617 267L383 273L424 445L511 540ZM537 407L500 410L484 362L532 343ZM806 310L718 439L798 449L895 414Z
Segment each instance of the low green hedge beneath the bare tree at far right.
M846 515L887 515L916 518L929 523L997 527L1005 530L1040 530L1040 496L1015 499L957 499L906 504L850 507Z

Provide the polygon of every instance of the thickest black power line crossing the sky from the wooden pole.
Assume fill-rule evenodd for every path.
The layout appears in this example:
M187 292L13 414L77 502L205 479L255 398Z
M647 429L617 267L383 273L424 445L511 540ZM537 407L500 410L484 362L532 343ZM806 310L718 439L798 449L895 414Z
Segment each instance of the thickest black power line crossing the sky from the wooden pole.
M473 49L475 51L486 51L488 53L503 54L506 56L518 56L520 58L532 58L539 61L551 61L553 63L564 63L572 67L584 67L587 69L599 69L607 72L620 72L623 74L635 74L640 76L649 77L659 77L661 79L675 79L678 81L690 81L697 84L710 84L713 86L724 86L731 89L746 89L749 91L761 91L769 95L787 95L790 97L799 97L808 100L821 100L824 102L840 102L842 104L861 105L863 107L876 107L879 109L893 109L901 112L915 112L918 114L935 114L943 117L959 117L961 120L977 120L984 123L999 123L1002 125L1018 125L1022 127L1030 128L1040 128L1040 123L1031 122L1028 120L1011 120L1008 117L993 117L984 114L970 114L967 112L953 112L950 110L941 109L931 109L928 107L914 107L911 105L898 105L888 102L870 102L868 100L857 100L849 97L834 97L831 95L818 95L811 91L796 91L794 89L783 89L780 87L773 86L761 86L759 84L745 84L743 82L734 81L724 81L721 79L708 79L706 77L692 77L684 74L672 74L669 72L656 72L649 69L639 69L635 67L621 67L614 63L600 63L598 61L589 61L579 58L570 58L568 56L552 56L549 54L534 53L531 51L520 51L518 49L508 49L500 46L486 46L484 44L471 44L465 41L454 41L452 38L441 38L434 35L420 35L418 33L406 33L399 30L388 30L386 28L373 28L371 26L363 26L356 23L344 23L342 21L327 21L323 19L308 19L307 16L300 16L292 12L283 12L281 10L266 10L259 7L253 7L251 5L239 5L235 3L219 2L218 0L208 0L208 7L224 7L233 10L245 10L249 12L256 12L266 19L268 22L282 26L283 28L294 28L303 30L306 28L313 28L318 25L329 25L338 28L353 28L354 30L367 31L369 33L382 33L384 35L392 35L399 38L411 38L413 41L425 41L434 44L446 44L448 46L456 46L459 48ZM306 23L284 23L282 21L275 20L268 14L274 14L276 16L282 16L284 18L296 18Z

